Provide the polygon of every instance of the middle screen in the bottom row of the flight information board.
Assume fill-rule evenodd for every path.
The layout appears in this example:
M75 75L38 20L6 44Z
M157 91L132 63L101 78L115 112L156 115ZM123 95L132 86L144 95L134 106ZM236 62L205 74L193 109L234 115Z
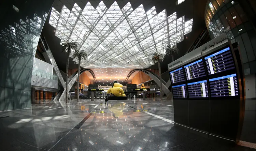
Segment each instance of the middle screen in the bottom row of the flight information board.
M188 97L209 97L207 80L187 84Z

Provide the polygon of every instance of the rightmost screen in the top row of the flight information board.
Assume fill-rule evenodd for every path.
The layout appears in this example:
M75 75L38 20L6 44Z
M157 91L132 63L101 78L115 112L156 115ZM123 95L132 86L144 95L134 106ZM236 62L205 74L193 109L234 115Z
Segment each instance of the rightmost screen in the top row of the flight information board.
M230 48L218 51L204 58L208 75L234 69L234 60Z

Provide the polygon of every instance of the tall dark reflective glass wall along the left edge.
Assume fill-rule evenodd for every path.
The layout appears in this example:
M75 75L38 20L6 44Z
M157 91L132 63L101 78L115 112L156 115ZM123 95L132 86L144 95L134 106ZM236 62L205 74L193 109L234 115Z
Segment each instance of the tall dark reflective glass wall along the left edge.
M0 10L6 14L0 29L0 110L31 107L34 55L52 4L53 0L40 5L25 0L17 4L8 1Z

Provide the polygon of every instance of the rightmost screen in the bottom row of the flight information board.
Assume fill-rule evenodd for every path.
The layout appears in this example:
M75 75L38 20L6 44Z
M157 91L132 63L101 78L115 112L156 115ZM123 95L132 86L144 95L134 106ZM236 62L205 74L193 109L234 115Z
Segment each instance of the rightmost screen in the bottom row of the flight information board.
M238 96L237 74L209 79L211 97Z

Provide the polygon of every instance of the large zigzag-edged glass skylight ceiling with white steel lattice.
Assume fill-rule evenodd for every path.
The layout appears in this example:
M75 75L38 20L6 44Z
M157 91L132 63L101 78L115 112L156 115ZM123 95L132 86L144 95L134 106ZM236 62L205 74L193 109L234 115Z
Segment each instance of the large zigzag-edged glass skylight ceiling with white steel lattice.
M142 4L133 10L129 2L123 9L116 2L107 9L101 1L96 9L89 2L84 10L76 3L71 11L65 5L60 13L52 8L49 24L61 43L74 40L87 52L81 66L135 69L153 65L154 52L164 54L168 44L183 41L193 19L177 19L176 12L167 16L166 10L157 14L155 6L145 12Z

